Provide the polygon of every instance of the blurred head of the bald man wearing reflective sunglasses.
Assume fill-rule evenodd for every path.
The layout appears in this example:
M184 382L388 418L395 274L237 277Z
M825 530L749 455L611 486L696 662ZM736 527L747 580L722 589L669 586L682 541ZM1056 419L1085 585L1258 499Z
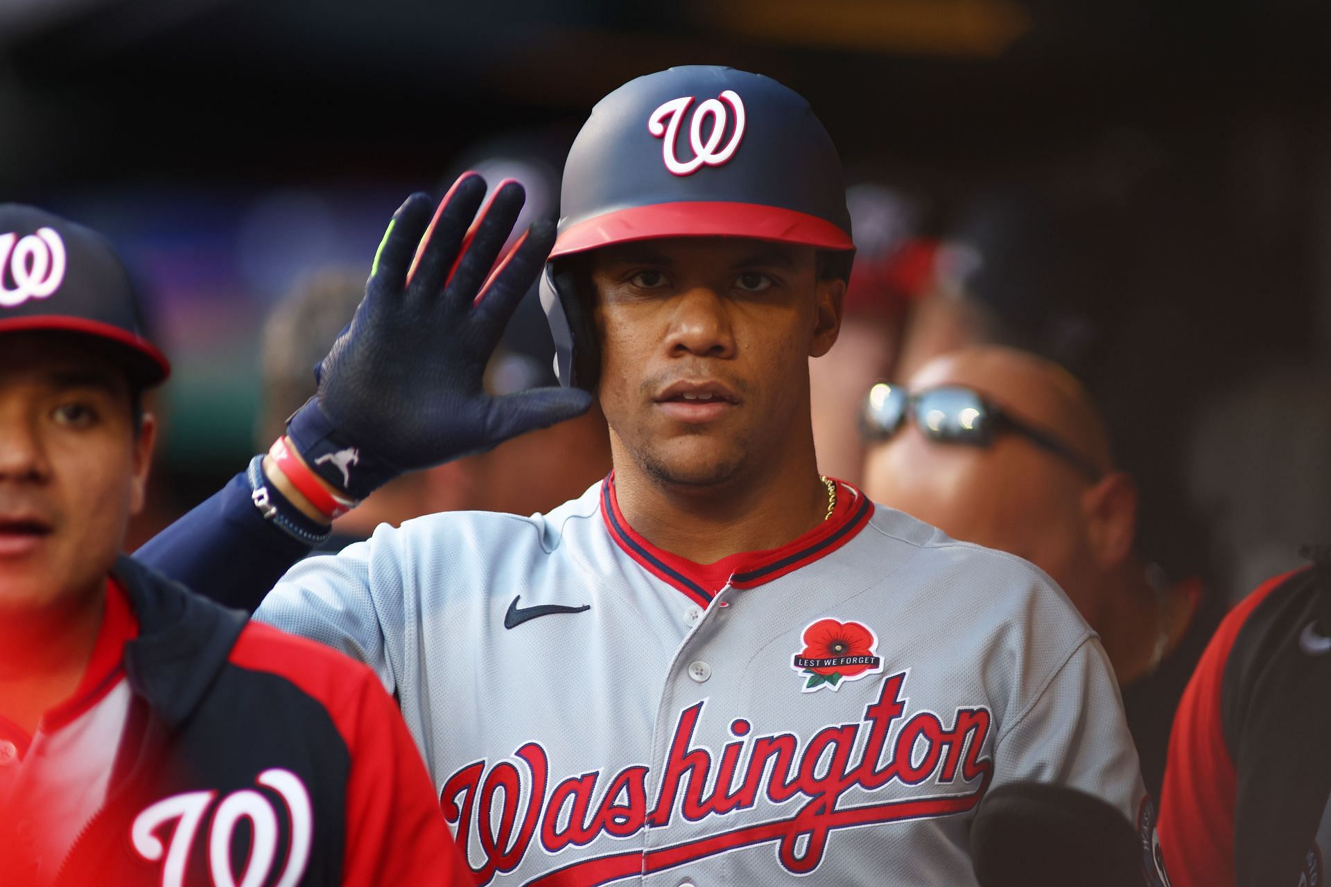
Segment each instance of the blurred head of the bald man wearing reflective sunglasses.
M1042 372L1001 350L962 351L925 364L908 387L976 388L1094 461L1107 459L1077 439L1082 423L1066 420L1057 379ZM1074 467L1021 435L998 434L988 447L940 443L921 434L912 416L870 451L864 489L953 539L1025 557L1075 596L1089 563L1082 512L1087 487Z

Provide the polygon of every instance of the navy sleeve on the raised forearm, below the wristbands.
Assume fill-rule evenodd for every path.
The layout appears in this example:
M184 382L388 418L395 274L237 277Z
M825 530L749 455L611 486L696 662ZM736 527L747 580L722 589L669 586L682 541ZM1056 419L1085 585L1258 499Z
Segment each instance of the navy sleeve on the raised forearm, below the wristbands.
M264 520L242 472L148 540L134 559L218 604L253 613L310 548Z

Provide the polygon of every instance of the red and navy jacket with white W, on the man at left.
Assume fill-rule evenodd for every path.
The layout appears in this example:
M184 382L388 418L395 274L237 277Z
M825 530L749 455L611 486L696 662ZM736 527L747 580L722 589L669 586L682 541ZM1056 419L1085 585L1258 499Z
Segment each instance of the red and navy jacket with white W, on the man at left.
M106 801L56 883L470 883L367 668L126 557L113 581L138 626L121 660L133 696Z

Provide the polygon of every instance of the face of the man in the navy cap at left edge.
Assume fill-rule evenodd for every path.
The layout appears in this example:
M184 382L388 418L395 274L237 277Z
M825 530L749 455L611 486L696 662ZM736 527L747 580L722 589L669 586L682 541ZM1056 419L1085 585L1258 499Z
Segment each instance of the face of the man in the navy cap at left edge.
M142 507L152 440L124 375L85 340L0 336L0 613L101 586Z

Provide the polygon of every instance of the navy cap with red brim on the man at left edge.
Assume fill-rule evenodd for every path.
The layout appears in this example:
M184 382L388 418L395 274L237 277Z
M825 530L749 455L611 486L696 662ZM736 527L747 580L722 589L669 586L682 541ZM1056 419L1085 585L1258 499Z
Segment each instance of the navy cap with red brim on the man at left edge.
M140 386L170 374L105 238L33 206L0 203L0 335L28 330L93 336Z

